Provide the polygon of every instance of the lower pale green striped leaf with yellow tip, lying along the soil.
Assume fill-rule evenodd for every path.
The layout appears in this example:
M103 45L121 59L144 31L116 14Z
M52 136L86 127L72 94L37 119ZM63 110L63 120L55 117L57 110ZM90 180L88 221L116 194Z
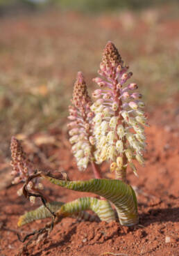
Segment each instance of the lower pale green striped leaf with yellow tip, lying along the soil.
M94 197L82 197L72 202L64 204L62 202L51 202L47 206L51 211L56 213L56 216L65 217L71 216L81 220L96 220L96 216L93 216L85 210L92 210L99 217L100 220L110 222L115 220L114 211L110 206L110 203L106 200L97 199ZM51 217L51 213L44 205L29 211L19 218L17 225L21 227L27 223L31 223L34 220Z

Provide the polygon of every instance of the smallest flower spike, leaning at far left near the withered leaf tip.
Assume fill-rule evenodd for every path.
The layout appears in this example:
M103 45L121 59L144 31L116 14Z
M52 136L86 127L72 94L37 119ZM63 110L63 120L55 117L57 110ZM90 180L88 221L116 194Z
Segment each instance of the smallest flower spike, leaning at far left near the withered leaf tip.
M11 144L10 144L10 150L11 150L11 163L12 166L12 172L11 175L14 176L14 179L12 181L12 184L17 184L19 182L26 182L28 180L28 177L34 174L35 170L33 168L33 163L31 163L30 160L26 157L26 153L24 153L22 149L22 145L15 137L11 138ZM34 190L42 189L42 183L39 182L40 179L33 179L33 181L28 182L28 190L29 192L32 192ZM17 191L18 195L23 194L22 188L20 188ZM30 201L32 203L35 202L35 197L30 197Z

